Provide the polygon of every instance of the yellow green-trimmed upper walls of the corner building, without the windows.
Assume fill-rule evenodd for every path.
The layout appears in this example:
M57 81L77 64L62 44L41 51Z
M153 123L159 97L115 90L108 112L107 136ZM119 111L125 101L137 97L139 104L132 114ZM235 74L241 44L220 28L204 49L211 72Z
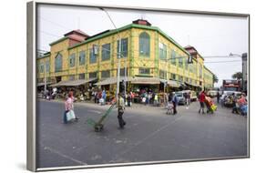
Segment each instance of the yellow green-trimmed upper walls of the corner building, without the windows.
M139 55L139 35L146 32L150 38L150 52L149 56ZM150 74L148 76L159 77L159 71L162 70L167 73L168 79L172 75L176 76L176 80L181 82L188 82L192 85L213 86L212 73L204 68L203 58L197 55L193 58L193 64L189 64L186 68L186 62L188 60L188 54L186 54L179 46L176 46L169 41L165 36L160 34L157 30L131 27L126 30L113 34L110 36L100 37L94 41L81 44L79 46L73 46L69 48L69 40L63 39L58 43L51 45L51 55L44 58L39 58L37 63L44 63L46 59L50 61L50 73L47 76L61 76L61 80L69 80L69 76L74 76L74 79L78 79L79 74L85 74L85 78L89 78L89 73L96 72L97 77L102 79L101 72L105 70L110 71L110 76L117 76L118 69L118 39L128 38L128 56L127 58L120 59L120 68L128 66L128 76L141 76L139 74L139 68L149 68ZM105 44L110 43L110 58L102 61L102 47ZM159 43L167 46L167 60L159 58ZM98 46L97 62L90 63L90 49L94 46ZM176 59L176 66L169 60L171 58L171 51L176 52L176 56L182 57L183 66L179 67L179 58ZM79 65L79 52L86 52L85 65ZM60 72L55 72L55 58L57 54L63 56L63 68ZM69 56L75 54L76 63L75 66L69 66ZM201 68L201 76L200 76ZM208 76L204 79L204 75ZM181 76L181 77L180 77ZM43 73L39 73L39 78L44 77ZM211 78L212 77L212 78ZM204 84L205 83L205 84Z

